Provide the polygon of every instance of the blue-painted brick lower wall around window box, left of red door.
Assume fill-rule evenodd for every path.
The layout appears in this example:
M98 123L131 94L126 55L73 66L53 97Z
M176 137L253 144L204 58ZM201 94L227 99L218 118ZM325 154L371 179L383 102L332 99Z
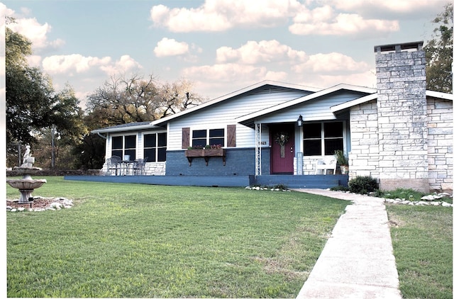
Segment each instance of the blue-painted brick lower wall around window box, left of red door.
M196 157L189 166L184 150L167 151L166 176L249 176L255 174L255 149L226 149L226 166L221 157ZM262 174L270 174L270 148L262 149Z

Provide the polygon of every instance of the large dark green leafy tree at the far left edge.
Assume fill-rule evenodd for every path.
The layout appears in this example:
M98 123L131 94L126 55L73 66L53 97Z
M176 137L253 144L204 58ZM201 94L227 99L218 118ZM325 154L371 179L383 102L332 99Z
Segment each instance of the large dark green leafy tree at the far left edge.
M5 45L6 141L31 144L41 130L52 126L77 136L80 108L72 88L67 85L56 93L47 74L28 66L26 56L32 53L31 42L8 27Z

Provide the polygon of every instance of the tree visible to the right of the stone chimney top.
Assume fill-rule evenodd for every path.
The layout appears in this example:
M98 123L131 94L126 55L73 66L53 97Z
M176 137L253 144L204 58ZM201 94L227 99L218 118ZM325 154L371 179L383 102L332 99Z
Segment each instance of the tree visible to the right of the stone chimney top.
M428 41L426 51L427 89L451 93L453 91L453 4L445 6L445 10L433 19L439 24L433 30L432 39Z

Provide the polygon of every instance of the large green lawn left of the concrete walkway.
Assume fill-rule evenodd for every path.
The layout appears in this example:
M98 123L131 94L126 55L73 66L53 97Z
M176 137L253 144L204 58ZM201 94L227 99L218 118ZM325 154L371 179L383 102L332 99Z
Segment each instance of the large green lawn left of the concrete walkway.
M294 298L348 205L298 192L46 179L34 195L75 204L7 213L8 297Z

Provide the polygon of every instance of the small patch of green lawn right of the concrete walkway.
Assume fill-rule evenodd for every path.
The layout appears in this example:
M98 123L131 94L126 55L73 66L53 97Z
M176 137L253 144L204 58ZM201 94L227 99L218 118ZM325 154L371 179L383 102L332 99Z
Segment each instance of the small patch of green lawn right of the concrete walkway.
M453 298L453 209L387 205L404 298Z

